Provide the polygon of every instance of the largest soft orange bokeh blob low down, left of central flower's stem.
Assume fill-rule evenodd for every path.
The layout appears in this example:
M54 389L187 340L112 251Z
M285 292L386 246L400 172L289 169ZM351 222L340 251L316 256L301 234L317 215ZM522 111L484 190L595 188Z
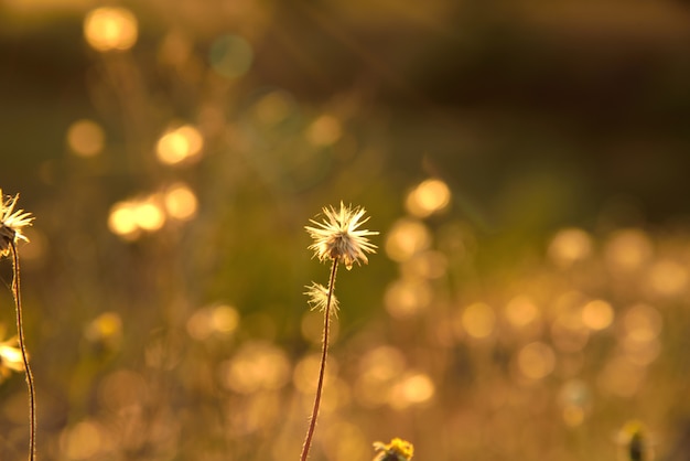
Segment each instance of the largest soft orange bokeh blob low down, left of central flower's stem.
M220 366L224 386L238 394L280 389L290 380L291 373L285 353L262 341L245 343L230 361Z

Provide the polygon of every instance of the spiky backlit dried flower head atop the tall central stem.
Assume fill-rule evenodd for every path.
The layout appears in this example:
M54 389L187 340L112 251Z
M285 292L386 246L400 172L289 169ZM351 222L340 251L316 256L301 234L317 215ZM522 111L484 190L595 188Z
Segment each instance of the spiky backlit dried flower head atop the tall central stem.
M332 259L344 262L348 270L352 269L354 262L369 262L366 253L376 253L376 245L371 244L367 236L378 235L378 232L358 229L369 221L369 217L362 218L365 213L364 208L352 208L345 206L343 202L337 211L333 206L324 207L325 219L321 223L310 219L317 227L304 227L314 239L309 249L314 250L314 256L320 261Z

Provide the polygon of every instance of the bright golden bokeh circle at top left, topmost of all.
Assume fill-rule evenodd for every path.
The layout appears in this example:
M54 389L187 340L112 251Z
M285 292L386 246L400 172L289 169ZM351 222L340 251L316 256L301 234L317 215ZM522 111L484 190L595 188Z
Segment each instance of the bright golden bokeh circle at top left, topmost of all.
M86 42L99 52L129 50L138 35L137 18L125 8L97 8L84 19Z

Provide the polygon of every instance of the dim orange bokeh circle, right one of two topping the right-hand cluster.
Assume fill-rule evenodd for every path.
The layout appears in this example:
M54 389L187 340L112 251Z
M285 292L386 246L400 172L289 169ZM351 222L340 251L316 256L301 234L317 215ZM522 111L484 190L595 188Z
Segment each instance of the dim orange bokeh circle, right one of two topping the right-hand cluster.
M654 247L642 229L615 232L604 248L604 258L614 271L628 272L640 268L651 258Z

